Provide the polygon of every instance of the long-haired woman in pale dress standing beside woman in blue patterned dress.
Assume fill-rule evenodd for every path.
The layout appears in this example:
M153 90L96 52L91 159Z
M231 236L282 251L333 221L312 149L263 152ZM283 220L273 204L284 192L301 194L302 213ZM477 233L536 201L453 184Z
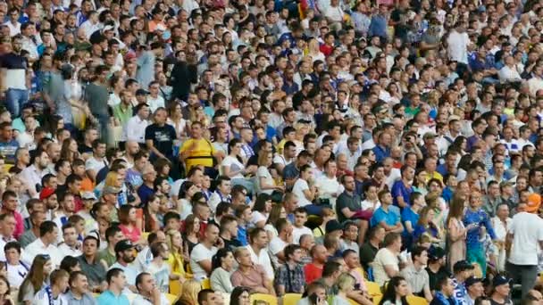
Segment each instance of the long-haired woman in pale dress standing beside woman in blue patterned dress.
M465 260L464 198L456 195L449 205L447 216L448 266L455 266L456 261Z

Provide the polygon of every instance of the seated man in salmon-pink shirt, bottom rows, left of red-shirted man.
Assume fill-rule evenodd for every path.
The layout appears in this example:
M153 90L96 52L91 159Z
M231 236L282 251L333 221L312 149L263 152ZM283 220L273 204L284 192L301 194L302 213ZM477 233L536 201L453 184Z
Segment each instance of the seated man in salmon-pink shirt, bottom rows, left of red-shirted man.
M238 248L234 258L238 261L238 270L230 277L232 285L249 287L255 293L275 295L272 279L266 276L262 266L253 263L251 253L246 248Z

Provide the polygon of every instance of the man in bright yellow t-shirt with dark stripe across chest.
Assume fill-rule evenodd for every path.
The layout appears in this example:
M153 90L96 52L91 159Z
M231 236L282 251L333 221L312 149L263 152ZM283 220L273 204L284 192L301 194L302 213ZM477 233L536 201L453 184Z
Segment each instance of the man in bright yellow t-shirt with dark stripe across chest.
M217 151L213 144L202 136L204 126L196 121L190 126L190 138L181 145L180 158L185 162L187 171L196 165L205 167L205 174L216 177L218 174L213 164Z

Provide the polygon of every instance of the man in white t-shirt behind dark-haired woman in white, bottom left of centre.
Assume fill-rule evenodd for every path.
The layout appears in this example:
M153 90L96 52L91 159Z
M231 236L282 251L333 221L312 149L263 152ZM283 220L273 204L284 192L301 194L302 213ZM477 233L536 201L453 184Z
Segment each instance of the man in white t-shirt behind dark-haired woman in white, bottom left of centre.
M208 223L207 227L205 227L204 239L196 244L192 252L190 252L190 268L196 281L201 282L211 275L211 258L218 250L214 246L217 242L222 242L219 238L219 227L213 223Z

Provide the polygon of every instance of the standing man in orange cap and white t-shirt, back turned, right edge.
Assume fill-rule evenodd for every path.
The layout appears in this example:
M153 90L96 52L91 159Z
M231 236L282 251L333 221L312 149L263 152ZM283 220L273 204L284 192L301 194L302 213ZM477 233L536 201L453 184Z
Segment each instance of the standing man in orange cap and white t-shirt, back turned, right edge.
M535 202L538 203L538 202ZM539 196L539 204L541 197ZM539 206L539 204L534 204ZM505 269L514 283L522 283L522 296L533 288L538 277L538 252L543 248L543 219L527 212L528 205L519 202L507 234L506 249L510 249Z

